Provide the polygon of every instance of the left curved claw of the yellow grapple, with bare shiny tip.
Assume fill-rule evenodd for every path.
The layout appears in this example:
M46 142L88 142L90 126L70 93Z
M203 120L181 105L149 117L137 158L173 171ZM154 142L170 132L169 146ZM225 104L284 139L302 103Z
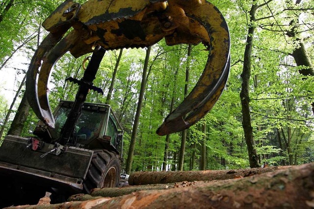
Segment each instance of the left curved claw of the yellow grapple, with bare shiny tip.
M26 96L28 103L36 116L52 128L54 128L54 118L47 95L48 79L53 65L72 47L74 38L72 34L70 33L58 42L62 35L56 37L50 33L36 50L27 71ZM38 69L42 61L37 84Z

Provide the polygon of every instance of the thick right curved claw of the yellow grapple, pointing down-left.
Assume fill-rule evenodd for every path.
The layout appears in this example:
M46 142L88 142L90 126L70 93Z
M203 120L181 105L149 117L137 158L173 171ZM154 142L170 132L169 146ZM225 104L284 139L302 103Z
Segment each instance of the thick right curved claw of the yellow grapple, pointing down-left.
M229 29L219 10L206 0L193 0L193 3L191 0L168 2L169 5L171 3L181 7L192 20L191 23L195 21L204 26L207 34L197 28L194 30L193 26L189 29L190 33L198 35L208 47L209 56L194 89L157 129L160 136L183 131L204 117L223 92L230 71Z

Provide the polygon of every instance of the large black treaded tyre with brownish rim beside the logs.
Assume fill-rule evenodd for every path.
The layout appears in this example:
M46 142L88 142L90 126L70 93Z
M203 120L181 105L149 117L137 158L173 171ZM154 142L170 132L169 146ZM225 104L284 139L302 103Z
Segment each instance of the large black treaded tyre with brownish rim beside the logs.
M120 161L115 152L94 150L89 165L84 190L90 193L93 188L118 187L120 180Z

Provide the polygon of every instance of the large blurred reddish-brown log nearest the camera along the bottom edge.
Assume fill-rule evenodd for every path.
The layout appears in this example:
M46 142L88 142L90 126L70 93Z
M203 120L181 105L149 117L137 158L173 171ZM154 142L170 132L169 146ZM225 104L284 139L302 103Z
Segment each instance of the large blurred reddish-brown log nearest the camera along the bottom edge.
M314 207L314 163L226 181L133 192L114 198L16 209L302 208Z

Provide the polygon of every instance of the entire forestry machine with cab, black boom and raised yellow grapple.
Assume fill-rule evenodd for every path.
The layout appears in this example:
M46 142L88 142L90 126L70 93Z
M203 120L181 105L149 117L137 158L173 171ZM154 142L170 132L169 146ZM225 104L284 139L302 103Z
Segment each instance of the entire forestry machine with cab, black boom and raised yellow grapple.
M182 131L205 116L228 79L228 26L207 0L88 0L84 4L66 0L43 27L50 33L38 46L26 79L28 103L41 122L34 131L37 137L9 135L0 147L1 186L7 193L1 196L2 206L35 204L48 187L52 202L57 203L74 193L89 193L93 187L119 184L120 125L109 106L84 103L89 90L102 93L93 80L106 50L152 46L163 38L169 46L202 43L208 50L199 81L157 129L160 136ZM67 79L79 85L75 101L62 101L52 114L49 75L68 51L75 58L87 53L92 57L80 80ZM82 125L89 122L98 131L81 133Z

